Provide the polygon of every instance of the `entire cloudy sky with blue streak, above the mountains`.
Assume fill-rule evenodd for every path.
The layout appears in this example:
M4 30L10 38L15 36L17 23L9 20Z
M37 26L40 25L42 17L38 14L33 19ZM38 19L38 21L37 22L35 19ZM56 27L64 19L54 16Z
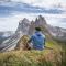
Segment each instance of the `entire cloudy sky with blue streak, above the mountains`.
M35 20L40 14L48 24L66 29L66 0L11 1L13 2L0 3L0 31L15 31L20 20L23 18Z

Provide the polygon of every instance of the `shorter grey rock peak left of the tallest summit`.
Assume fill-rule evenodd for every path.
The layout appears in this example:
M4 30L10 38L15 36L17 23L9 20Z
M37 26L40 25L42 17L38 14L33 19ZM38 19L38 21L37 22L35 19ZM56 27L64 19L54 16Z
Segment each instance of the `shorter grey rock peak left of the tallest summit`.
M29 31L29 26L30 26L30 21L28 19L23 19L19 22L19 26L16 30L16 33L21 33L21 34L28 34Z

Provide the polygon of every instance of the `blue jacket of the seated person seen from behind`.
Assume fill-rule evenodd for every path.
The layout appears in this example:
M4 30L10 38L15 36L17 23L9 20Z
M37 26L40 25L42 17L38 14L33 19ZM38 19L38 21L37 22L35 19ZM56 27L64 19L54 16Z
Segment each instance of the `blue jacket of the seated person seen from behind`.
M45 35L41 32L35 32L35 34L31 36L31 42L33 43L34 50L43 50L45 45Z

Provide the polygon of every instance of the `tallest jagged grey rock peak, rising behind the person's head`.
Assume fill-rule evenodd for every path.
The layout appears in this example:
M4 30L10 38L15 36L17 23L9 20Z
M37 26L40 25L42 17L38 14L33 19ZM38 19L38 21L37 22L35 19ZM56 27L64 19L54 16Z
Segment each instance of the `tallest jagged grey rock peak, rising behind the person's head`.
M42 15L38 15L38 18L35 19L35 21L31 22L31 25L30 25L30 29L29 29L29 34L30 35L32 35L35 32L36 26L40 26L42 29L47 26L46 20Z

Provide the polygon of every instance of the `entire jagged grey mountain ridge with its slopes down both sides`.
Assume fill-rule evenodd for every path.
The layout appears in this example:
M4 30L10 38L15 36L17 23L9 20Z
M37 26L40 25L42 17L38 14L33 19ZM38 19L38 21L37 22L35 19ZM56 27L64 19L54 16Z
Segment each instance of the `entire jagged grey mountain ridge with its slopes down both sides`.
M55 37L56 40L58 38L59 41L63 41L63 40L66 41L66 35L65 35L66 32L64 34L64 32L62 32L63 29L61 30L61 28L53 28L53 26L48 25L46 23L46 20L44 16L38 15L38 18L36 18L35 21L29 21L28 19L24 18L23 20L21 20L19 22L15 33L9 38L8 42L2 44L1 48L3 47L3 45L8 46L6 48L3 47L2 51L7 50L7 48L10 50L10 47L13 47L13 45L16 46L18 42L20 41L20 38L23 35L31 36L35 32L35 26L42 28L42 30L43 30L42 32L43 32L43 34L46 35L47 41L50 41L50 42L52 41L54 44L56 44L56 42L52 37ZM56 36L52 33L55 33ZM63 36L61 36L61 34L63 34ZM62 37L63 37L63 40L62 40Z

